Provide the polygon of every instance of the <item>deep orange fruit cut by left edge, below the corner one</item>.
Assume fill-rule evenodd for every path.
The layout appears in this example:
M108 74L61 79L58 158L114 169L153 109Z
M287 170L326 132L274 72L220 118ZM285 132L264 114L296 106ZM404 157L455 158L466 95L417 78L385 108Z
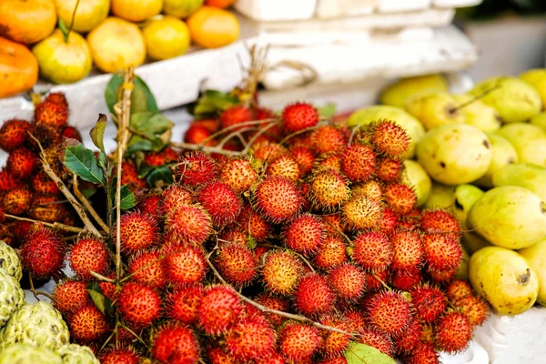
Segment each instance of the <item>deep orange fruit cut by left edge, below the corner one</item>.
M0 98L14 96L35 85L38 61L25 45L0 36Z

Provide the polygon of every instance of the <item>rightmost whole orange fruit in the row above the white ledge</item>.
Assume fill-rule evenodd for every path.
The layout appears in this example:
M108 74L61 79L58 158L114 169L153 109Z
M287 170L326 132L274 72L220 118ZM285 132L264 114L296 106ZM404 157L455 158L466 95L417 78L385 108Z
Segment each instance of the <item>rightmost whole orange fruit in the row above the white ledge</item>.
M205 48L229 45L238 39L240 26L235 15L213 6L203 6L187 19L191 39Z

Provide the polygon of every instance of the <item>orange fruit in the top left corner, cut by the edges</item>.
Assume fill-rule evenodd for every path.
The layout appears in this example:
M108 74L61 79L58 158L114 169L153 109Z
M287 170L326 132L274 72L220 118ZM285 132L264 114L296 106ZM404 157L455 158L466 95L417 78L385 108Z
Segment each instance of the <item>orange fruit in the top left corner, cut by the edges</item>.
M0 35L31 45L55 29L53 0L0 0Z

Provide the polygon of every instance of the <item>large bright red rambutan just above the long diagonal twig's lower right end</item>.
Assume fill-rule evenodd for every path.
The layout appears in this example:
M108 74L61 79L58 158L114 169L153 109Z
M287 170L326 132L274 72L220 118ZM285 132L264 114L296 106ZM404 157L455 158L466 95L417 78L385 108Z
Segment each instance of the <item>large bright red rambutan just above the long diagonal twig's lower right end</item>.
M367 300L365 310L369 324L389 335L402 332L411 319L410 303L396 291L373 295Z

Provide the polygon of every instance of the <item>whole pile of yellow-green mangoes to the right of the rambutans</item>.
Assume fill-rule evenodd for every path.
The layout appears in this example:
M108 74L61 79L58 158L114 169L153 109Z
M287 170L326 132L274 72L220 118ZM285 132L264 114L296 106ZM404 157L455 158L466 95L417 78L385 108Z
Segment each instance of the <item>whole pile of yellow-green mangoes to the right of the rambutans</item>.
M349 126L387 118L411 138L403 180L420 207L460 222L462 271L500 315L546 307L546 69L463 95L444 76L405 78Z

